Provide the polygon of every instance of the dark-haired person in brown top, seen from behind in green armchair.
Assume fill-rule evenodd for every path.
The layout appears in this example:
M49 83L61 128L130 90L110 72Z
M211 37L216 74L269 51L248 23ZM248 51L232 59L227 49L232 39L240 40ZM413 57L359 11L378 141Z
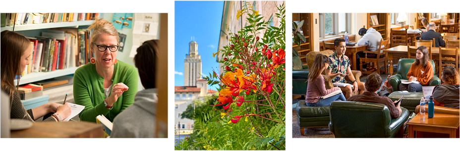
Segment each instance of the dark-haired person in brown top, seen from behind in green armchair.
M392 118L398 118L403 112L403 110L401 110L401 102L395 106L395 102L397 101L393 102L390 98L379 96L377 91L380 89L381 85L382 77L377 73L373 73L366 78L366 92L360 95L351 96L346 101L383 104L390 110Z

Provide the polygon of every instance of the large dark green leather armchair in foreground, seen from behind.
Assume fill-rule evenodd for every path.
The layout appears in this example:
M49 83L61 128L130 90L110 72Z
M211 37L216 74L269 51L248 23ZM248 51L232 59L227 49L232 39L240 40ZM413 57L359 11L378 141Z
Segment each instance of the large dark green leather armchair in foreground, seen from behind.
M402 138L403 123L409 112L401 109L400 117L392 119L383 104L333 101L329 108L329 130L336 138Z

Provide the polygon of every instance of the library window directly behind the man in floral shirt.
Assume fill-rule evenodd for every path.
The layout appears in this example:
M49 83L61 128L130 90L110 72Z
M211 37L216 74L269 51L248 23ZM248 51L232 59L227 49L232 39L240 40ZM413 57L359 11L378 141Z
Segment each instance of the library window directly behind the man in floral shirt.
M319 13L320 38L350 33L351 13Z

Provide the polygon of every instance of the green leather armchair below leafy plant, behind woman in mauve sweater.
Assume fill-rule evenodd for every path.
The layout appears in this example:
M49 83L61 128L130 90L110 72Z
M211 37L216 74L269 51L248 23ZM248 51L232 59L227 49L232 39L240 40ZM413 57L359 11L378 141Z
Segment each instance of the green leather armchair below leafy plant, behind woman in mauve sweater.
M307 93L308 66L303 66L297 51L292 52L292 95Z

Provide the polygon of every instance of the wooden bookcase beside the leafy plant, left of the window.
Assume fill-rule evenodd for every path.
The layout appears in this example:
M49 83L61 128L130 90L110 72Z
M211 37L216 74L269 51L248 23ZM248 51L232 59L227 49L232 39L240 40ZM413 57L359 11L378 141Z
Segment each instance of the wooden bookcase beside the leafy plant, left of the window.
M307 62L307 53L313 51L313 13L292 13L292 21L301 20L303 20L302 31L306 41L302 41L300 45L294 44L292 48L295 48L299 52L299 57L302 62Z

